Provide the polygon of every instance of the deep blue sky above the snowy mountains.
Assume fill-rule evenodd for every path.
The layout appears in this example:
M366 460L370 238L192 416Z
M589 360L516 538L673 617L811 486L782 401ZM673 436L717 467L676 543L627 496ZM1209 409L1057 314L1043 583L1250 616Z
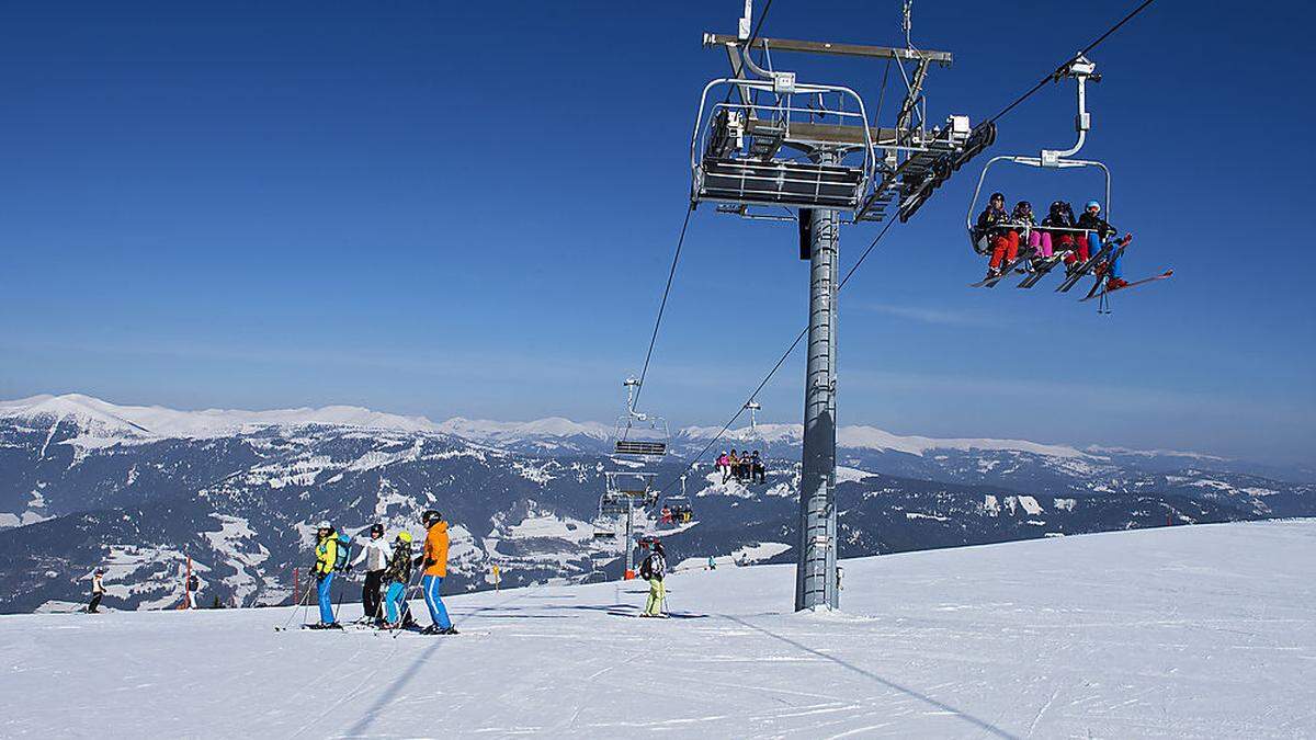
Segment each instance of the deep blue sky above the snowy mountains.
M762 5L762 3L759 3ZM898 3L778 0L763 34L898 42ZM934 119L995 112L1130 3L919 3L955 53ZM0 396L353 403L609 419L638 371L724 74L699 3L32 3L0 24ZM1303 3L1153 5L1095 54L1086 155L1137 234L1101 317L974 291L975 167L842 294L841 423L899 433L1316 457ZM880 65L779 57L876 95ZM1071 87L994 153L1073 138ZM1252 145L1244 138L1254 137ZM1034 204L1082 175L1003 183ZM842 234L842 267L875 234ZM700 208L646 406L721 423L805 317L790 226ZM799 361L761 398L797 421Z

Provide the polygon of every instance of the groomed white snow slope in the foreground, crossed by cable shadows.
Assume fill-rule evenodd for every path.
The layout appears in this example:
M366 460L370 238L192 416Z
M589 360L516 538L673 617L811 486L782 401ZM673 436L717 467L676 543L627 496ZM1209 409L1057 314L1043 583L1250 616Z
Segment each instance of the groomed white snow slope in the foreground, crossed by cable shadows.
M1298 737L1316 520L449 599L466 633L276 633L287 608L0 618L0 736ZM354 618L359 607L343 607ZM428 621L428 620L426 620Z

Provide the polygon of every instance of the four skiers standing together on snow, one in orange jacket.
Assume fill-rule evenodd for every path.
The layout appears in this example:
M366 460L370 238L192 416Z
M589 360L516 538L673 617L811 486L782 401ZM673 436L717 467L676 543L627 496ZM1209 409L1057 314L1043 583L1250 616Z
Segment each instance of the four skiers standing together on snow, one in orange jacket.
M374 524L370 527L370 539L362 544L357 557L351 558L351 537L334 529L329 521L322 521L317 528L313 568L320 621L307 627L342 628L336 616L333 583L340 574L346 577L363 565L366 579L361 589L365 610L362 621L388 629L416 628L407 603L407 590L412 585L413 569L421 569L420 589L425 606L429 607L430 625L416 629L425 635L457 635L440 595L443 578L447 577L447 521L438 511L429 510L421 515L421 523L425 527L425 540L420 554L412 553L411 532L399 532L390 545L384 540L384 525Z

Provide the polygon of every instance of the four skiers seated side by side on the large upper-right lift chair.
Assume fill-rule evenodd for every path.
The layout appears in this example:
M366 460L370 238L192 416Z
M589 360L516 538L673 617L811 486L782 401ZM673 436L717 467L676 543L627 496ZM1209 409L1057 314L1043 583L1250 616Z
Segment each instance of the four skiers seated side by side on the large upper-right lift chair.
M1101 217L1101 204L1096 200L1088 200L1078 219L1069 203L1057 200L1038 224L1030 203L1020 200L1007 212L1005 195L994 192L987 208L978 216L974 244L980 253L991 255L987 280L1003 277L1016 262L1023 262L1019 253L1024 249L1024 259L1033 270L1049 270L1058 258L1070 275L1091 269L1105 279L1105 290L1112 291L1128 286L1120 277L1120 255L1133 238L1124 234L1124 238L1116 240L1117 233ZM1101 259L1090 265L1099 255Z

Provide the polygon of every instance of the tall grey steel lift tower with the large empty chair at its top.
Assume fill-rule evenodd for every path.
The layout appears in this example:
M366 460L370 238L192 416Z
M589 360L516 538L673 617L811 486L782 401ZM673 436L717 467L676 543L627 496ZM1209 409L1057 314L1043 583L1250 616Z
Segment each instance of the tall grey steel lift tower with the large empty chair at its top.
M809 261L808 369L795 608L837 608L836 329L837 241L842 224L912 216L932 192L995 138L967 116L930 126L924 83L946 51L766 38L750 33L753 0L734 36L704 34L730 76L704 86L691 137L691 207L796 223ZM907 5L908 9L908 5ZM883 128L851 86L813 84L774 57L822 54L884 59L904 96ZM757 57L757 59L755 59ZM888 68L888 71L891 71ZM894 75L892 75L894 76Z

